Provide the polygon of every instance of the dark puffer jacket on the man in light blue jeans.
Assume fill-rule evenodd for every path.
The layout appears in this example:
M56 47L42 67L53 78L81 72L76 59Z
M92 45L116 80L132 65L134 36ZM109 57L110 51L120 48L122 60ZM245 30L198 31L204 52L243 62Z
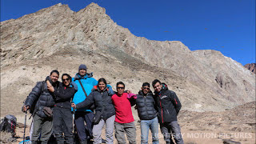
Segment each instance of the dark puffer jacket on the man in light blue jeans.
M143 93L140 90L137 94L136 106L138 110L138 117L141 120L150 120L158 116L156 103L154 102L154 95L151 91L146 94L146 96L143 96Z

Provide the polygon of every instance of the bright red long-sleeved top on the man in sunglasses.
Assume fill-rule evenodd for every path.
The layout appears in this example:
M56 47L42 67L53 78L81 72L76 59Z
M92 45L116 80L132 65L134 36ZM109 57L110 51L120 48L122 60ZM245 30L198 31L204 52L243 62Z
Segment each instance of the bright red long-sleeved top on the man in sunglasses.
M134 94L135 95L135 94ZM136 96L136 95L135 95ZM134 122L134 116L131 111L130 99L133 99L130 94L123 93L121 96L114 94L112 96L112 102L114 103L115 109L115 122L119 123L130 123Z

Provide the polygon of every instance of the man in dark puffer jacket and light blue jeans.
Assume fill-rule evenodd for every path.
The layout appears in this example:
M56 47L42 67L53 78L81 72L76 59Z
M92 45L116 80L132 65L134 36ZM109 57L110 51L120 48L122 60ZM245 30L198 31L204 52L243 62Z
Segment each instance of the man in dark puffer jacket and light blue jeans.
M149 129L152 133L152 143L158 144L158 115L154 102L154 95L150 90L150 83L144 82L142 90L137 94L136 108L141 120L141 143L148 143Z

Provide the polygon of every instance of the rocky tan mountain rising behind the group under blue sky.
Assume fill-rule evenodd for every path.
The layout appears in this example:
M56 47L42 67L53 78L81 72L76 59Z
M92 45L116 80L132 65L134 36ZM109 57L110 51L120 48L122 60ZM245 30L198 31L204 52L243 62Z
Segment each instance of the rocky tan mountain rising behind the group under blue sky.
M159 78L182 110L220 111L254 101L255 74L216 50L136 37L95 3L74 12L57 4L1 22L1 114L21 114L22 101L51 70L74 76L86 64L94 78L123 81L137 93Z

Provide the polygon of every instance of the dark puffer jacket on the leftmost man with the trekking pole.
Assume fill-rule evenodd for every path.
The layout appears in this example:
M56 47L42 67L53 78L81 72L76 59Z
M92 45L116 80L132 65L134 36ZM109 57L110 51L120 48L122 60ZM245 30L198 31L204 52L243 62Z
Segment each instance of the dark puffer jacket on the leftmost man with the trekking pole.
M54 86L54 89L58 89L59 82L51 82L50 77L46 77L50 83ZM32 89L29 96L26 98L25 105L34 107L33 114L38 114L41 118L47 118L46 114L43 113L43 107L54 107L54 94L47 90L46 81L38 82ZM35 105L35 106L34 106Z

